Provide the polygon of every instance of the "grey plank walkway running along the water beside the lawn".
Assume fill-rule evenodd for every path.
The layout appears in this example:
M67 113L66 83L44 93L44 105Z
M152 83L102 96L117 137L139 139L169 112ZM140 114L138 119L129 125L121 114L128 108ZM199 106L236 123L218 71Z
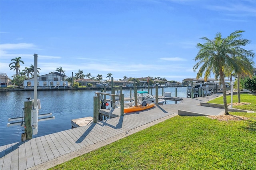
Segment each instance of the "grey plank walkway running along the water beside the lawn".
M152 126L178 110L159 105L146 111L125 114L84 127L73 128L25 142L0 146L1 170L48 169L120 138ZM154 123L155 122L155 123Z

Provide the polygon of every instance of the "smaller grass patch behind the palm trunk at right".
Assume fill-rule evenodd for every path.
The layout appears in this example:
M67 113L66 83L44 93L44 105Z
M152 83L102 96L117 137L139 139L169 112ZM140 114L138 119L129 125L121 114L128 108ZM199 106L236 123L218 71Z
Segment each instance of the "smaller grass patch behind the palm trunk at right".
M250 105L239 105L235 106L233 105L233 108L236 109L242 109L242 110L248 110L248 111L256 111L256 95L252 94L241 94L240 95L240 101L241 103L250 103ZM238 96L233 95L233 103L238 102ZM218 97L216 99L213 99L211 101L208 101L208 103L217 103L217 104L223 104L223 97ZM231 103L231 95L227 96L227 103L230 105Z

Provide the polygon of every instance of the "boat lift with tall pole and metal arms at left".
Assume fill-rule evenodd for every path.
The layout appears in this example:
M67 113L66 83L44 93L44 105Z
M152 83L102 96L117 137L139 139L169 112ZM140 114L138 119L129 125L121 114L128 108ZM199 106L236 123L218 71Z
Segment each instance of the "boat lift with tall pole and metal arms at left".
M34 70L37 70L37 54L34 54ZM36 71L35 71L36 73ZM25 132L22 133L22 141L32 139L32 135L38 133L38 122L55 119L52 113L46 113L38 115L39 109L41 109L40 99L37 99L37 73L34 74L34 99L26 98L28 101L24 102L23 117L9 118L8 122L19 121L14 123L8 123L7 127L14 125L20 125L25 128ZM35 102L36 101L36 102ZM38 119L42 117L41 119ZM22 120L22 121L20 121Z

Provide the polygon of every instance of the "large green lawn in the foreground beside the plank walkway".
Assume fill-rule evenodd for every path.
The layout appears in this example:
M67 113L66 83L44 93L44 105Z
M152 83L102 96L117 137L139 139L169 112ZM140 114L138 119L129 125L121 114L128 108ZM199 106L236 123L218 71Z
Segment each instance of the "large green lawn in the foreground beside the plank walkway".
M256 113L244 121L176 116L52 169L256 169Z

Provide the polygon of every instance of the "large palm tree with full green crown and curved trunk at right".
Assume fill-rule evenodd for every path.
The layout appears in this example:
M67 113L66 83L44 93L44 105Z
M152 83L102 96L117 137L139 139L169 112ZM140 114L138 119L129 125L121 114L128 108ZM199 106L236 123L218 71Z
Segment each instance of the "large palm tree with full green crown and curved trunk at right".
M254 53L251 50L247 51L241 48L241 46L245 46L250 43L250 40L241 38L240 33L242 32L244 31L235 31L226 38L222 38L221 33L217 33L214 40L203 37L201 39L205 40L206 43L197 43L197 47L200 50L194 60L199 61L194 65L193 71L196 71L196 69L200 67L196 78L200 78L204 74L204 81L210 77L211 73L214 73L215 76L220 76L220 81L223 85L223 103L225 115L229 115L229 113L226 98L224 71L227 67L233 68L238 73L243 70L244 65L239 63L240 60L234 56L240 56L242 59L254 57Z

